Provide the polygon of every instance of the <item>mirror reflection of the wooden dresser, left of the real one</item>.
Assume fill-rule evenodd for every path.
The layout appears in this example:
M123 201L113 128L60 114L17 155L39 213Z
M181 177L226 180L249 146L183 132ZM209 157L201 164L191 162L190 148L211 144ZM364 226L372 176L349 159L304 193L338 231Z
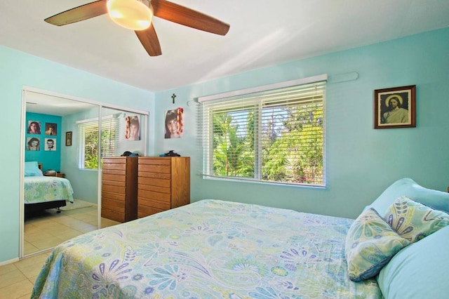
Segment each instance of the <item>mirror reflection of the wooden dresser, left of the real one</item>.
M126 222L138 217L138 157L103 159L101 216Z

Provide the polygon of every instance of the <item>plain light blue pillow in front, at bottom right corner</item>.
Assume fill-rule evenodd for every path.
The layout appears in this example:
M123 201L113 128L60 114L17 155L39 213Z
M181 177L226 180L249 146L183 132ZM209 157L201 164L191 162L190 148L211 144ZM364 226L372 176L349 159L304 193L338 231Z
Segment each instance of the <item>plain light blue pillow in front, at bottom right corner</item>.
M384 298L448 298L448 248L443 227L394 255L377 277Z

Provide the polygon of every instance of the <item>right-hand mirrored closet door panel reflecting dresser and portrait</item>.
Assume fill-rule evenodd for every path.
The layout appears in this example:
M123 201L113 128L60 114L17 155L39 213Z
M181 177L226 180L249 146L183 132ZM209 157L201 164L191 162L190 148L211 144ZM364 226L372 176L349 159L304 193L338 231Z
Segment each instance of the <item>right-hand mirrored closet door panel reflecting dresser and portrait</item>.
M146 152L147 115L102 107L101 216L137 219L138 158ZM130 156L128 156L130 155Z

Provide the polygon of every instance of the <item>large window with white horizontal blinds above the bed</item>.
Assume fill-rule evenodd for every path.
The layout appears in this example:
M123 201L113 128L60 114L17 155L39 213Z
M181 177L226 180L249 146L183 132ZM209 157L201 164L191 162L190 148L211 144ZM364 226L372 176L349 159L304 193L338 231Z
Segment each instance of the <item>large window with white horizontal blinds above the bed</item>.
M324 184L326 81L204 100L203 175Z

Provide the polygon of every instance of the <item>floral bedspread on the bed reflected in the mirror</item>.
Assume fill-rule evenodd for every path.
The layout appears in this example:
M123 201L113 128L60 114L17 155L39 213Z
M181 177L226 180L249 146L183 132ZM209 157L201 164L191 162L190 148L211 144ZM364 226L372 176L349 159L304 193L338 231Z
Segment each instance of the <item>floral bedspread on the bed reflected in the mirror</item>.
M26 176L24 180L25 204L66 199L73 202L73 189L66 178L53 176Z

